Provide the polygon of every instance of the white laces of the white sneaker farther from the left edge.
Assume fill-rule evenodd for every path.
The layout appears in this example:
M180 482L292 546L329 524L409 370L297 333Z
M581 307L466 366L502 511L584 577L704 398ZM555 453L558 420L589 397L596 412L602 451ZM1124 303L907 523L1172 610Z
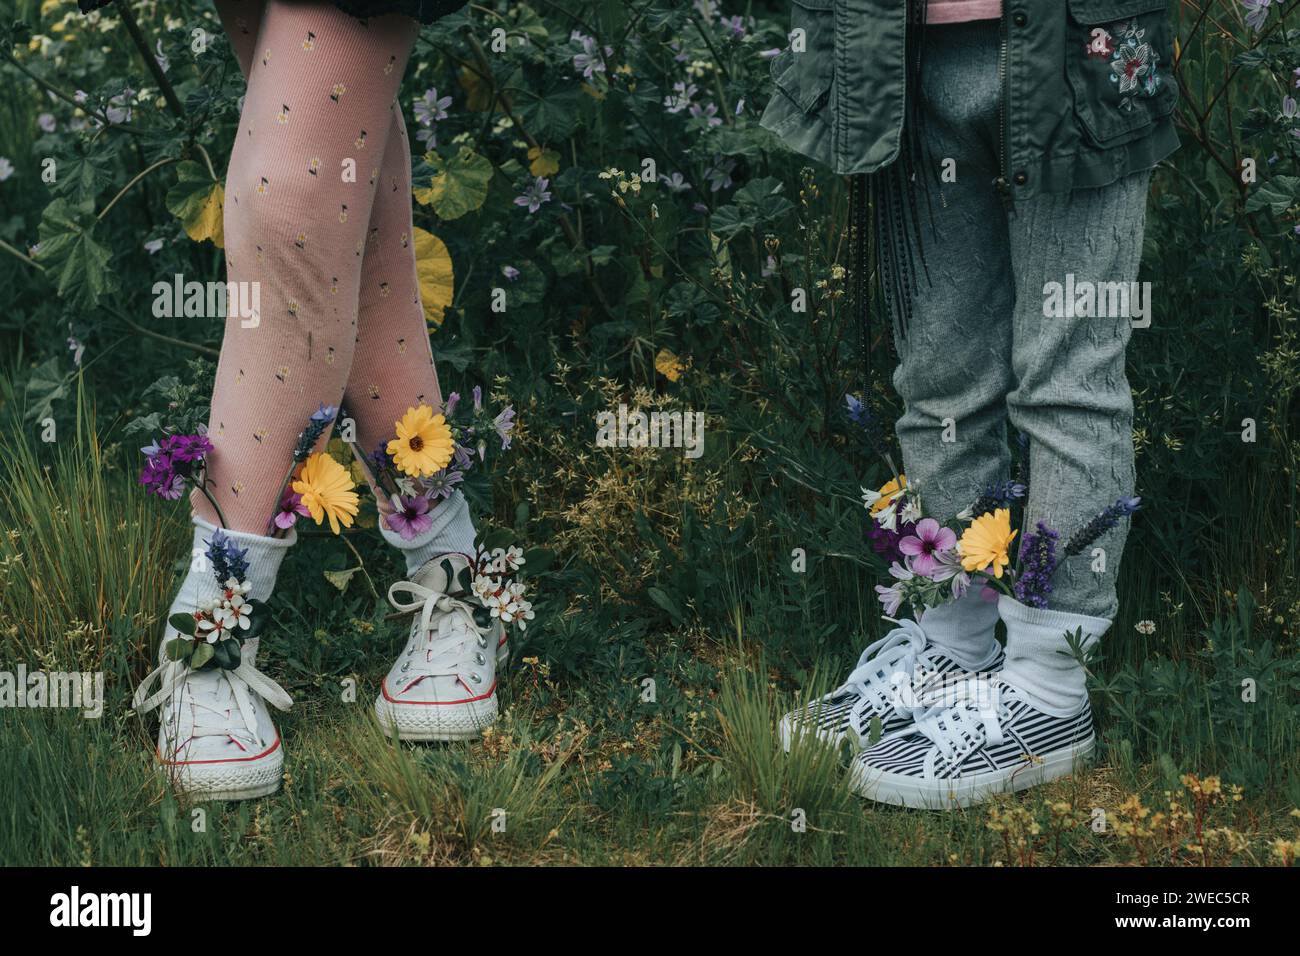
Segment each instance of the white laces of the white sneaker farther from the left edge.
M407 600L402 600L399 594L406 594ZM485 635L489 628L478 626L471 605L415 581L398 581L390 587L389 604L399 611L420 611L419 633L422 644L413 644L408 653L412 659L403 667L404 671L413 672L415 678L402 687L400 693L426 678L458 678L471 693L486 689L474 665L488 665L484 650L488 648ZM421 650L422 656L417 653ZM471 687L471 683L474 685Z

